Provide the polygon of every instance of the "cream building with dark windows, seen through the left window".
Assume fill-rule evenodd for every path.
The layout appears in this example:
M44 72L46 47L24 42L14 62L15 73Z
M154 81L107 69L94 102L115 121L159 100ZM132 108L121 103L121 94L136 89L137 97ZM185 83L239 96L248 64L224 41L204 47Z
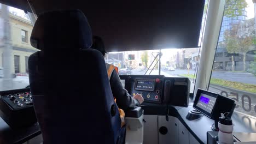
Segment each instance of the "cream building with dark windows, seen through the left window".
M1 27L4 26L3 18L1 17ZM32 32L31 22L14 14L9 13L9 26L10 26L10 49L11 49L11 73L28 73L28 57L38 51L30 45L30 35ZM4 31L3 28L0 29ZM3 32L1 32L3 33ZM0 67L3 67L4 62L4 40L3 37L0 41Z

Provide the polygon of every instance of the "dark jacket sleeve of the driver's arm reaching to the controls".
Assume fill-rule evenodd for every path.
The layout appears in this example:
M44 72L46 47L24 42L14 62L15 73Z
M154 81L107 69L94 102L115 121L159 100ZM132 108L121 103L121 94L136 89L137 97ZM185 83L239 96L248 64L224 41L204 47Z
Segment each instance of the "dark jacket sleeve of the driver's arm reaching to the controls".
M123 87L117 71L113 70L109 82L113 97L117 99L117 105L120 109L126 111L139 106L138 100L132 98L127 90Z

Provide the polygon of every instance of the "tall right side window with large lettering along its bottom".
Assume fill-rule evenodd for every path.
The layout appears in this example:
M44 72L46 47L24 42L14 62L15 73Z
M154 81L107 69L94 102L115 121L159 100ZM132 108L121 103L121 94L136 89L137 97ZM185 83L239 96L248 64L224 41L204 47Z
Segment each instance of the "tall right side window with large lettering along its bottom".
M235 111L256 116L254 3L226 1L209 90L236 101Z

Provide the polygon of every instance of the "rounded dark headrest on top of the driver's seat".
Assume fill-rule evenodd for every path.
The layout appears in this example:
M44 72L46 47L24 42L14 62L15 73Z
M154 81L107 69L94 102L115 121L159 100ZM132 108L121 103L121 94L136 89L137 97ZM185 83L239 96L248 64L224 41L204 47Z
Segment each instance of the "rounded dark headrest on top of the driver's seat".
M78 9L48 11L38 16L30 41L39 50L86 49L92 45L91 27Z

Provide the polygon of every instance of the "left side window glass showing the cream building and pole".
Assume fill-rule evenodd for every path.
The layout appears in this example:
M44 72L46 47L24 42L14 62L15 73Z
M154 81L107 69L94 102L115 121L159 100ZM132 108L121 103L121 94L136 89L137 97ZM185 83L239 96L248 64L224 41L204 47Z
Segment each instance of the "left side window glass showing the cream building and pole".
M29 85L28 57L38 51L30 45L32 28L23 10L1 4L0 91Z

